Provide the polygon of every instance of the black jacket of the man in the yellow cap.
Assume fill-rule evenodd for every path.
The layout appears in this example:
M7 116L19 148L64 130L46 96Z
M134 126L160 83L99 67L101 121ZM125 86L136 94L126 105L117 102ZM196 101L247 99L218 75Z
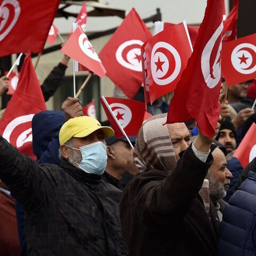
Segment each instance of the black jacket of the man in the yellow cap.
M0 137L0 179L25 206L27 255L127 255L121 190L67 161L38 165Z

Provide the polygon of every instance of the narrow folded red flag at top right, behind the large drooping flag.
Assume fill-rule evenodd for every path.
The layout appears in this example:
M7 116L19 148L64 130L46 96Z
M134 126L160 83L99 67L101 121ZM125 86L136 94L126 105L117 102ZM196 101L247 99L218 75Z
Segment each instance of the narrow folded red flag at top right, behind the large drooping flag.
M236 22L238 19L238 0L234 0L233 9L228 14L228 17L223 21L223 40L222 42L228 42L236 39Z

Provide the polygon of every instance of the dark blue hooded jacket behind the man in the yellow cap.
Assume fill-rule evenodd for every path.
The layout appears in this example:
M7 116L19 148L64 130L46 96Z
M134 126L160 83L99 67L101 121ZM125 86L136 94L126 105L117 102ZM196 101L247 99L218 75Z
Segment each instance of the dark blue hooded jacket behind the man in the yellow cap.
M59 130L65 123L65 116L62 111L41 111L32 119L33 152L37 162L60 164L59 159ZM24 209L18 201L15 201L17 215L20 255L26 256L26 238L24 230Z

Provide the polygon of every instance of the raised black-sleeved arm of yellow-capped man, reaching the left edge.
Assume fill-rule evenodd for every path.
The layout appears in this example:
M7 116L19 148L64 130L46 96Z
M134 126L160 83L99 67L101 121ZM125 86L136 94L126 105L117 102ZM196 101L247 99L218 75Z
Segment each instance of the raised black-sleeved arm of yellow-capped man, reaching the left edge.
M44 176L34 159L21 154L0 135L0 179L19 203L28 208L33 205L33 211L45 203Z

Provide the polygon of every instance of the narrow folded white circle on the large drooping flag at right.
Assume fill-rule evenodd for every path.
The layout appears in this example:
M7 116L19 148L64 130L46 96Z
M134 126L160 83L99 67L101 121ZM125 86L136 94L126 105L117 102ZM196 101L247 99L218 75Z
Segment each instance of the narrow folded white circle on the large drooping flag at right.
M219 82L221 78L221 47L222 47L222 39L219 38L221 36L223 30L223 22L221 21L220 26L215 30L212 37L209 39L207 44L204 47L201 56L201 69L202 74L204 76L204 81L206 85L213 89ZM217 45L216 42L220 39L220 43ZM213 50L217 50L216 56L212 57ZM214 62L211 65L210 60L213 59Z

